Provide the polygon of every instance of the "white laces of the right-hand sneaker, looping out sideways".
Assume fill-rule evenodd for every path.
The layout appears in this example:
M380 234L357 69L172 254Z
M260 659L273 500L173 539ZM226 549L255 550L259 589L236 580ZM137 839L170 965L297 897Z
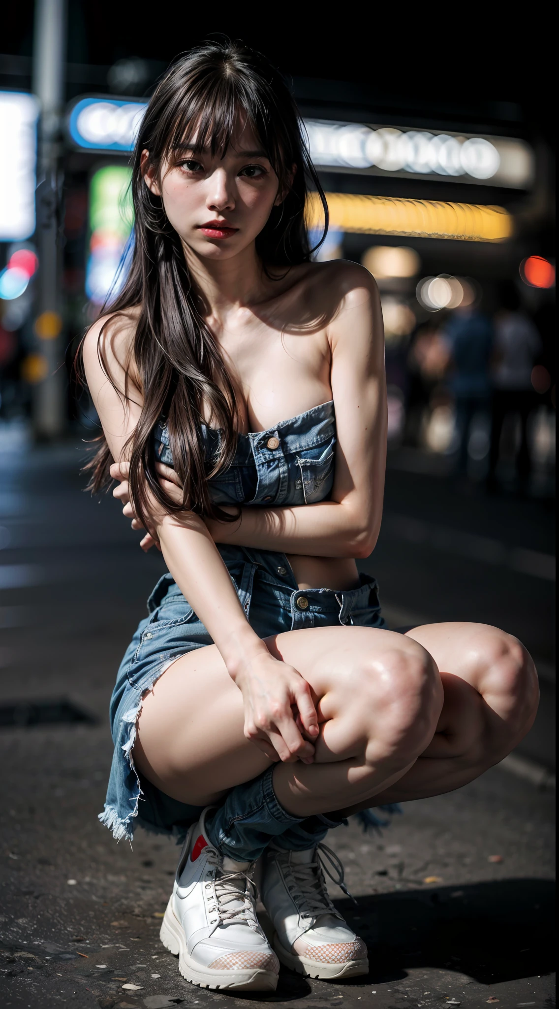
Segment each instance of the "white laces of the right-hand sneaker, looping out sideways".
M324 873L357 904L356 898L350 893L343 882L343 865L331 848L326 845L317 845L312 862L292 863L289 859L289 853L285 853L285 856L280 856L280 858L283 862L284 872L287 870L285 876L289 891L301 914L310 917L327 913L333 914L337 918L341 917L330 900Z

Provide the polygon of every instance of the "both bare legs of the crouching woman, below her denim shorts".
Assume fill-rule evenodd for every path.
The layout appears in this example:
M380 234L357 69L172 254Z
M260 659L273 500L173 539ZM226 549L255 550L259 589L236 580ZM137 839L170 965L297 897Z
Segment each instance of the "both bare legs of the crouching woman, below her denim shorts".
M410 649L411 641L423 647ZM459 788L510 753L536 716L531 657L487 625L433 624L403 637L313 629L269 645L310 683L321 720L315 763L282 764L274 773L278 800L294 816ZM167 794L217 801L269 766L245 740L243 720L241 692L217 649L190 653L145 698L134 758Z

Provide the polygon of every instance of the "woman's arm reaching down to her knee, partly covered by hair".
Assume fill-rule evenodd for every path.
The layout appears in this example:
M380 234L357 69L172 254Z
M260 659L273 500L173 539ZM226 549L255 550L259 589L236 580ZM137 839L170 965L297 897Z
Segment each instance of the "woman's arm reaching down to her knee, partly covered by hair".
M103 321L102 321L103 322ZM127 365L130 333L111 323L112 332L101 336L104 364L98 345L101 323L92 327L84 344L84 366L90 391L117 465L126 461L127 439L134 432L142 409L142 395L135 382L126 399L124 378L133 374ZM129 368L129 369L128 369ZM132 398L133 397L133 398ZM151 500L152 530L163 557L181 592L218 646L232 679L245 700L245 735L272 760L298 757L310 762L314 748L305 742L293 719L313 739L318 722L310 688L299 673L274 659L248 623L229 571L199 516L164 514Z

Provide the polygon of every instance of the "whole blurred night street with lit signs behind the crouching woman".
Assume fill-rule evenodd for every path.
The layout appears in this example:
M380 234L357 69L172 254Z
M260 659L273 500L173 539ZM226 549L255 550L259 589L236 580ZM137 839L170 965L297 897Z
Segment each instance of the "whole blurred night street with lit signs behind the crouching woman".
M365 895L357 927L384 943L372 961L377 1004L411 996L423 1005L450 996L472 1007L499 998L547 1004L552 58L545 9L510 17L471 4L417 13L407 5L396 16L330 5L310 17L287 5L222 5L217 16L176 0L155 8L19 0L2 12L0 751L8 773L0 877L8 937L0 957L8 966L0 988L13 1005L51 1005L63 992L80 1007L105 1009L147 1006L147 992L149 1005L167 1005L159 994L177 991L171 958L157 962L155 980L145 964L128 962L160 952L154 919L168 897L172 847L139 831L133 854L117 849L95 818L112 757L116 669L163 564L138 549L110 495L84 493L80 466L98 428L71 362L118 285L132 224L128 160L145 102L179 50L216 32L266 51L293 90L330 211L318 257L362 262L379 283L389 460L379 543L360 566L379 579L389 625L495 624L526 644L540 674L536 724L498 768L451 796L407 803L386 845L355 825L328 840L352 891ZM308 221L317 236L312 198ZM400 890L409 892L393 893ZM29 922L27 974L17 958L31 956ZM125 952L132 941L116 951L117 933L130 933L135 952ZM89 946L85 959L75 942ZM95 970L96 957L110 976ZM138 993L119 1003L127 978ZM285 998L310 991L282 979ZM312 991L329 1002L331 988L313 982ZM362 991L344 988L345 1004L357 1007Z

